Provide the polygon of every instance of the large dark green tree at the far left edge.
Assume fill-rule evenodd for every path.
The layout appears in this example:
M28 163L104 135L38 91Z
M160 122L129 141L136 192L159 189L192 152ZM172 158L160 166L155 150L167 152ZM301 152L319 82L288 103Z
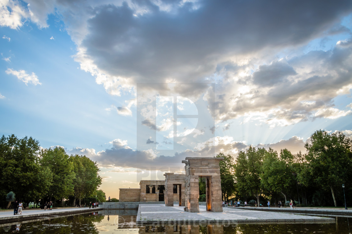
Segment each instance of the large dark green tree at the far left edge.
M29 202L48 192L52 174L46 165L39 165L39 152L39 142L32 137L1 137L1 195L14 191L19 200Z

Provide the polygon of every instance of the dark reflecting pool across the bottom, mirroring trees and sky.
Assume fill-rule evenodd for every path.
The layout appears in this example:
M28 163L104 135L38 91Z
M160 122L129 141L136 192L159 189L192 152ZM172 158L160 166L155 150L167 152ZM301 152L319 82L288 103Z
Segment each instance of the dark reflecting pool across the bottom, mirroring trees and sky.
M40 221L0 224L1 233L32 234L297 234L297 233L351 233L352 217L334 217L335 223L295 223L295 224L230 224L223 225L181 225L181 226L140 226L136 215L104 215L89 213L66 217L47 217Z

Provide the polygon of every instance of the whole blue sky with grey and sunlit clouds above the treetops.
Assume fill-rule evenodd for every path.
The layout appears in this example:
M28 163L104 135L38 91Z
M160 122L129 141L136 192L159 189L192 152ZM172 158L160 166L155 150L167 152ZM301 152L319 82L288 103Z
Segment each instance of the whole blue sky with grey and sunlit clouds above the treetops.
M249 146L352 137L352 1L0 0L0 134L97 162L101 189Z

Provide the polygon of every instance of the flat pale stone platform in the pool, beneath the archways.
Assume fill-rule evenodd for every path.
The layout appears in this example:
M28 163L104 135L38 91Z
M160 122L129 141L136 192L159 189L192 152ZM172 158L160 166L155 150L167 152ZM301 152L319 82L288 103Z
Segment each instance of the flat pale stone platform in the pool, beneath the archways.
M199 213L184 211L184 207L166 207L165 204L139 204L137 224L239 224L239 223L334 223L335 219L290 213L278 213L224 207L223 212L206 211L199 206Z

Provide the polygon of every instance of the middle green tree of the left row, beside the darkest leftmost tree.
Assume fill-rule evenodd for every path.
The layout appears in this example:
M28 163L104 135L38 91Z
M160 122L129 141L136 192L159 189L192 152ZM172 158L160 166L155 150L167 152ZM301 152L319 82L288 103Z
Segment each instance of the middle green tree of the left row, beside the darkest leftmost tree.
M52 172L52 183L49 187L48 196L54 196L56 199L68 198L73 194L73 162L69 160L68 154L61 147L54 149L44 149L40 153L41 165L47 165ZM62 199L63 201L63 199Z

